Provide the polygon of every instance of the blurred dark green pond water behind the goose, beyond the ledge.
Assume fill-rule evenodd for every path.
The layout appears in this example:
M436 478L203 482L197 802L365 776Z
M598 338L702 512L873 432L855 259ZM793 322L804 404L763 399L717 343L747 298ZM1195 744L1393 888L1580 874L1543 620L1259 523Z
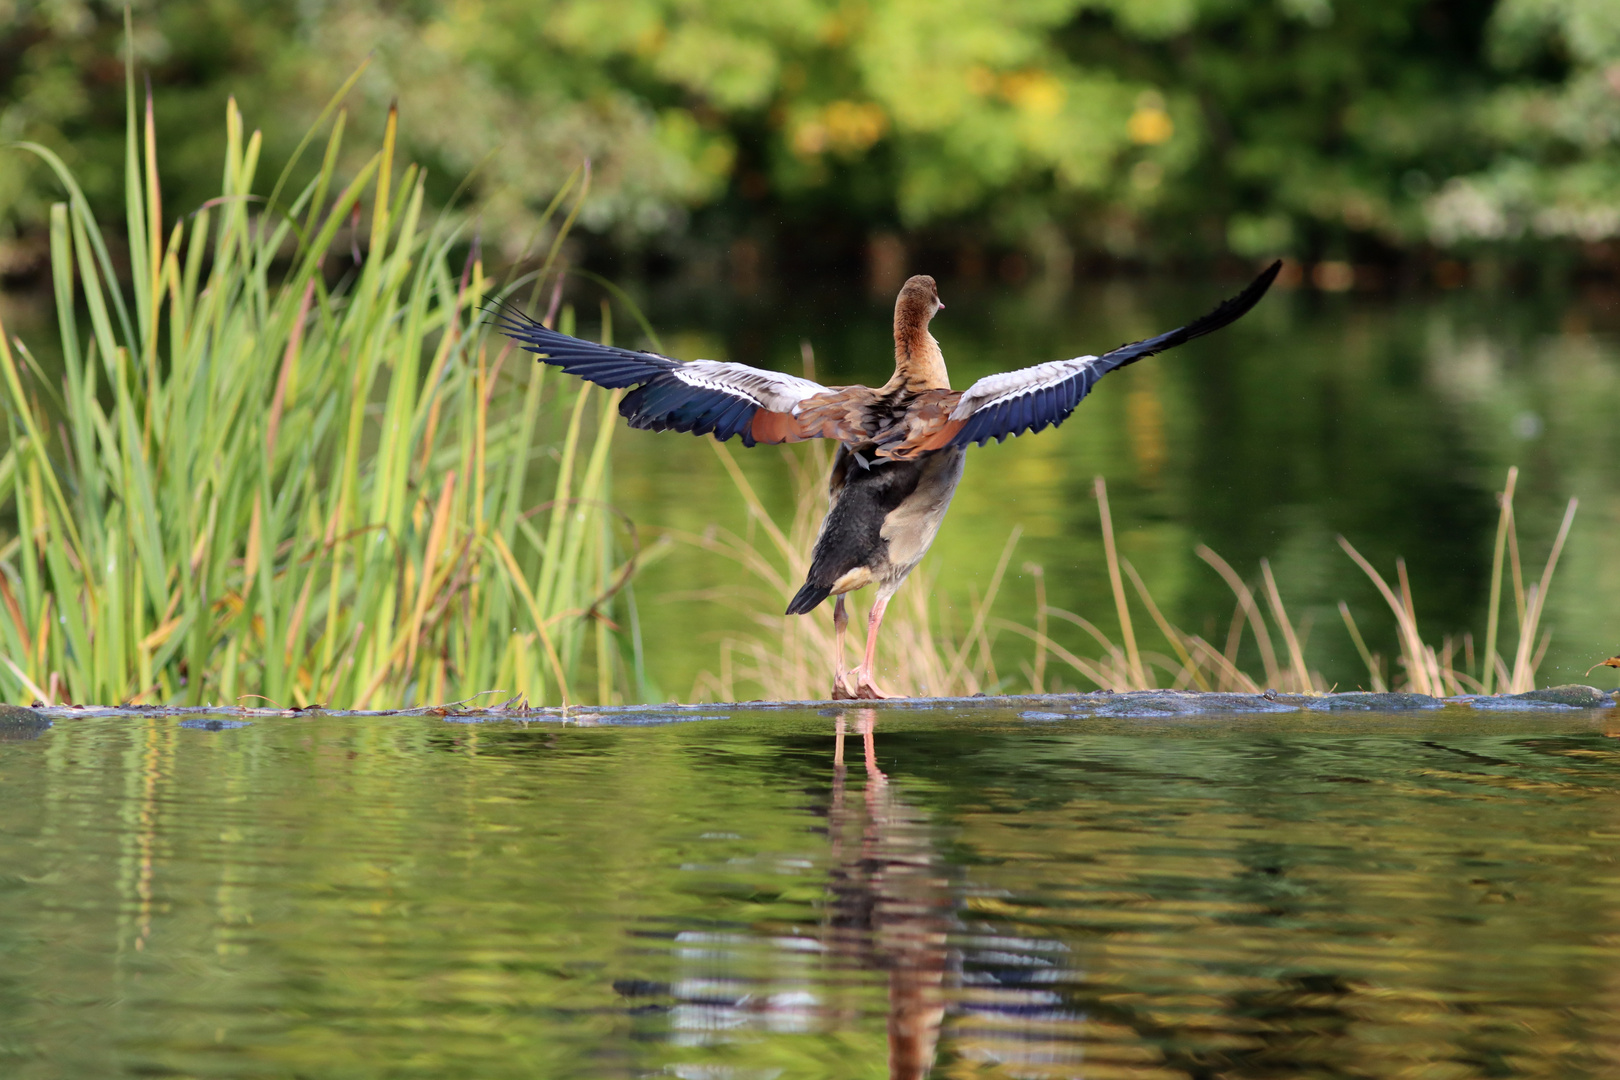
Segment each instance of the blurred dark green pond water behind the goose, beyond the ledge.
M991 371L1165 330L1233 288L1081 282L1055 291L948 282L948 308L933 330L953 384L966 387ZM825 381L854 382L889 372L889 303L854 287L740 296L697 283L654 295L651 311L677 355L799 371L800 342L808 340ZM586 322L585 332L593 329ZM1620 646L1617 334L1620 300L1602 291L1273 291L1221 334L1110 376L1061 429L972 450L925 570L938 575L962 625L969 597L983 594L1008 534L1021 526L998 614L1034 622L1034 578L1022 572L1034 562L1045 568L1053 604L1118 641L1090 494L1102 474L1121 552L1173 622L1213 640L1225 636L1233 614L1230 589L1194 555L1197 544L1251 580L1259 560L1270 559L1290 614L1311 631L1309 664L1349 690L1366 687L1367 674L1338 601L1349 602L1385 656L1395 649L1395 627L1335 536L1349 538L1390 580L1396 557L1406 559L1419 625L1437 646L1466 631L1482 641L1494 492L1518 465L1526 573L1539 573L1568 497L1581 499L1550 594L1545 625L1554 636L1541 683L1580 680ZM761 497L786 513L782 450L739 455ZM700 440L625 432L616 484L622 505L651 529L742 523L740 500ZM724 589L734 575L706 552L677 549L643 576L653 699L685 699L695 672L718 669L719 638L747 619L729 594L723 604L693 596ZM765 601L748 604L763 609ZM1137 619L1147 623L1145 612ZM1511 635L1511 612L1505 619ZM1055 623L1053 633L1081 656L1097 654L1079 628ZM1139 633L1152 638L1144 648L1170 651L1150 627ZM1259 672L1252 643L1246 648L1244 667ZM1011 688L1025 688L1019 662L1030 651L1016 635L1000 640L998 669ZM1591 678L1615 682L1607 670Z

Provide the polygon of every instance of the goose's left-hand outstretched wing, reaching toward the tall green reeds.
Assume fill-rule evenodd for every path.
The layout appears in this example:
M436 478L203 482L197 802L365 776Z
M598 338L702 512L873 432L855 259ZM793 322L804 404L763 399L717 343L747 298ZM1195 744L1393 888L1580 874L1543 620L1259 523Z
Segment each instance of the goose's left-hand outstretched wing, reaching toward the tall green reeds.
M828 387L810 379L716 359L682 363L658 353L640 353L585 342L548 330L523 313L502 306L496 317L502 334L548 364L562 368L599 387L635 387L619 403L632 427L713 434L724 442L742 436L755 442L797 442L821 434L799 423L799 405Z

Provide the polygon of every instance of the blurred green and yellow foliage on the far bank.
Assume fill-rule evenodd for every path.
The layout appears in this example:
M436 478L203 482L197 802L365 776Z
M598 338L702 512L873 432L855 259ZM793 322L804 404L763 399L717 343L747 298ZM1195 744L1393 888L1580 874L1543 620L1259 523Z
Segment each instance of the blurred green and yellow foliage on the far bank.
M590 157L583 223L928 228L1124 257L1379 257L1620 235L1615 0L143 0L165 191L217 186L235 94L292 147L352 105L517 253ZM0 139L117 207L122 8L0 0ZM60 198L0 164L0 235ZM693 219L693 215L698 215Z

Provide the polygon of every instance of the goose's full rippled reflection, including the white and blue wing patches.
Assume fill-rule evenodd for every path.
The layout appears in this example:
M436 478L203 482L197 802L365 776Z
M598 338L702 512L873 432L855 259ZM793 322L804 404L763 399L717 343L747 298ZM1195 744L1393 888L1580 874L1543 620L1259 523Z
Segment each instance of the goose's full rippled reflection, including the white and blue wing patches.
M870 983L852 983L847 973L876 972L893 1080L922 1080L936 1059L1076 1075L1064 1069L1081 1062L1084 1015L1064 1002L1063 988L1076 975L1068 949L970 912L972 897L1000 892L974 886L944 858L938 824L902 800L878 766L875 725L873 709L834 721L831 792L816 806L826 814L828 847L826 884L810 900L815 915L687 923L672 934L680 972L672 983L620 980L616 988L658 1028L659 1041L739 1048L758 1036L863 1028L876 1002L852 997L852 986ZM724 866L688 865L698 873L766 866L799 874L795 866L810 863L761 853ZM671 1070L734 1080L778 1075L774 1067L732 1064Z

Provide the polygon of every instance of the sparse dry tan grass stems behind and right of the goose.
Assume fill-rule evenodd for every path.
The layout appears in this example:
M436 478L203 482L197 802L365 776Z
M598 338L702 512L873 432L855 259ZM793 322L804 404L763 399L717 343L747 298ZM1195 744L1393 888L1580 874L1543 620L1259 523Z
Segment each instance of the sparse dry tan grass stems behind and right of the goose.
M734 607L752 610L753 631L727 635L721 640L719 664L700 672L692 688L693 699L735 701L744 695L776 699L823 698L831 688L833 627L818 612L813 617L778 615L794 594L808 567L808 552L825 508L823 478L831 465L831 452L821 445L784 449L795 489L794 513L786 525L776 523L753 492L748 479L724 445L716 444L721 463L748 508L744 533L711 529L701 536L680 539L734 560L748 581L737 594L724 599ZM1500 526L1490 578L1490 614L1486 648L1477 654L1471 635L1426 643L1418 628L1418 610L1405 560L1396 560L1396 585L1383 575L1345 538L1338 539L1345 554L1367 575L1390 607L1396 623L1398 651L1393 669L1387 657L1367 648L1359 625L1345 601L1338 610L1358 654L1367 667L1361 688L1409 690L1435 696L1463 693L1521 693L1536 688L1536 670L1547 653L1550 631L1541 627L1547 589L1575 520L1576 500L1570 500L1557 539L1547 555L1541 578L1526 586L1520 560L1518 531L1513 518L1513 487L1518 470L1510 470L1498 494ZM1226 633L1217 641L1187 633L1171 623L1142 575L1119 554L1108 487L1094 481L1102 525L1102 544L1113 594L1118 640L1090 619L1047 602L1045 572L1038 563L1022 563L1035 586L1034 619L1027 623L991 614L1006 570L1019 541L1019 529L1009 536L983 596L972 596L962 614L962 625L943 597L923 563L889 606L880 641L880 685L899 695L959 696L974 693L1051 693L1063 690L1205 690L1264 693L1327 693L1322 674L1306 661L1309 627L1290 615L1277 576L1268 560L1259 562L1259 573L1244 578L1207 546L1196 554L1220 575L1233 593L1234 609ZM763 538L763 541L761 541ZM1497 651L1503 585L1511 585L1516 614L1516 644L1511 657ZM1129 589L1128 589L1129 583ZM849 599L857 601L860 594ZM933 604L933 606L930 606ZM1137 635L1139 623L1152 627L1147 638ZM1051 628L1066 623L1084 631L1095 653L1082 656L1059 643ZM859 649L863 620L850 612L852 643ZM1145 630L1145 627L1144 627ZM996 669L996 640L1013 635L1029 641L1027 661L1016 670ZM1144 648L1144 643L1157 648ZM1252 644L1259 669L1244 670L1244 648ZM1006 656L1006 651L1001 651ZM1251 661L1252 662L1252 661Z

